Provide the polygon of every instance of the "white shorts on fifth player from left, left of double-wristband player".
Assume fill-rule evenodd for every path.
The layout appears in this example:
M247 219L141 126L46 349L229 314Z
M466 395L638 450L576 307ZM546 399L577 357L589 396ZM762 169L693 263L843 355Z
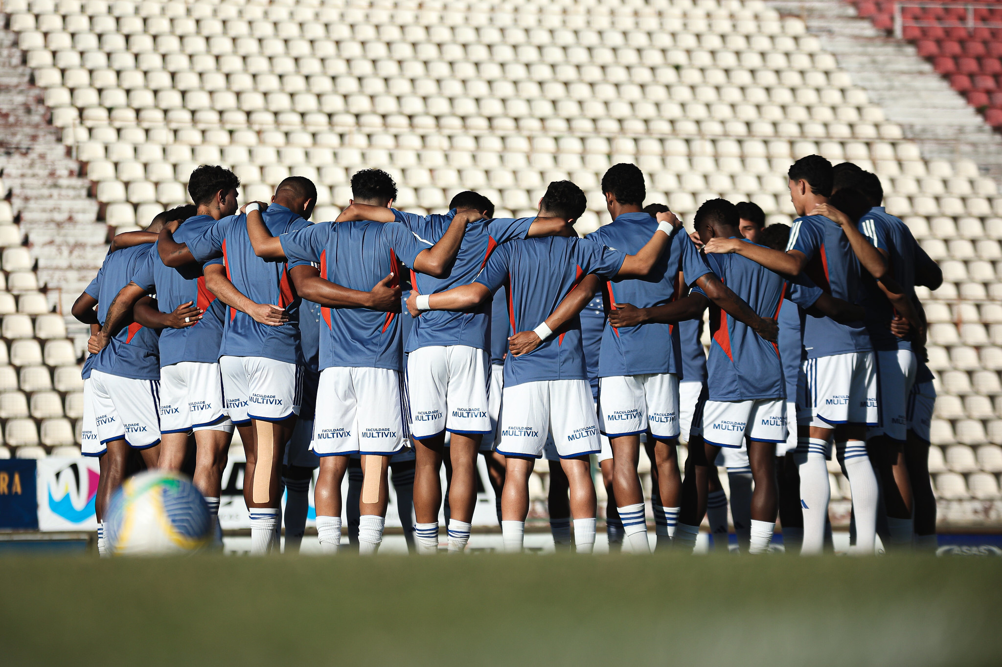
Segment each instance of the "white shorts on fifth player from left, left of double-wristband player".
M491 431L487 352L468 345L419 347L408 355L411 432L424 440L443 431Z

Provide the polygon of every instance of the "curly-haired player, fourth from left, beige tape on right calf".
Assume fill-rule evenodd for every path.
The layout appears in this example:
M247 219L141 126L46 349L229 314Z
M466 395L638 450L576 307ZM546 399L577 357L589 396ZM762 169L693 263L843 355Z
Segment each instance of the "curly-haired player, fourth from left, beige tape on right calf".
M352 177L354 201L389 208L397 196L393 178L378 169ZM457 214L434 246L397 223L351 221L322 223L274 236L258 211L246 216L247 234L259 257L320 265L319 277L296 289L320 303L326 326L321 335L321 378L317 402L324 409L314 424L313 451L320 457L316 488L318 532L326 550L341 537L341 480L348 456L362 455L359 546L374 554L383 539L390 457L403 447L405 424L400 383L402 332L397 313L342 307L321 292L336 283L368 292L388 274L396 278L398 261L415 271L445 275L459 251L466 225L479 213ZM317 283L316 285L314 283ZM399 304L399 300L397 301ZM336 535L335 535L336 533Z

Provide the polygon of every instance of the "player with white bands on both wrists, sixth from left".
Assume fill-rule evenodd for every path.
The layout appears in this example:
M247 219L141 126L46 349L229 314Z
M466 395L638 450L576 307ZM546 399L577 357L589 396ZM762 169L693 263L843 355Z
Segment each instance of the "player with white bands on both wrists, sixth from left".
M606 278L644 276L667 245L667 232L655 232L634 255L574 236L570 224L584 212L586 200L573 183L550 183L540 201L540 216L561 218L568 236L511 241L495 250L477 280L446 292L412 294L408 310L463 310L486 303L502 284L508 287L508 313L515 340L532 337L538 348L505 360L501 442L506 461L502 498L505 549L522 548L528 512L528 479L552 434L570 486L577 551L590 552L595 541L595 491L589 472L590 454L600 450L591 391L581 350L580 320L574 313L564 331L550 339L547 317L588 274ZM666 224L668 231L673 228ZM591 299L594 290L580 302ZM526 329L535 326L534 330Z

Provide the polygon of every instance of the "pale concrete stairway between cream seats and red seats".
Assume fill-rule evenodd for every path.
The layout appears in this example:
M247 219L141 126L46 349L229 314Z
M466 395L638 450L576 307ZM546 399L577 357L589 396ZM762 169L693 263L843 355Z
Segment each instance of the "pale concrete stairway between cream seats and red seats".
M973 160L1002 179L1002 138L921 58L915 46L888 37L842 0L771 0L779 12L800 16L835 54L853 83L864 88L888 120L902 126L927 160Z

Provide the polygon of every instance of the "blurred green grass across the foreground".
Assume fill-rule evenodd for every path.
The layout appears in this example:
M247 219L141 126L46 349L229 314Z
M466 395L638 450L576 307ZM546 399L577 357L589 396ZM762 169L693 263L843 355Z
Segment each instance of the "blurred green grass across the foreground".
M998 560L0 560L4 665L989 665Z

